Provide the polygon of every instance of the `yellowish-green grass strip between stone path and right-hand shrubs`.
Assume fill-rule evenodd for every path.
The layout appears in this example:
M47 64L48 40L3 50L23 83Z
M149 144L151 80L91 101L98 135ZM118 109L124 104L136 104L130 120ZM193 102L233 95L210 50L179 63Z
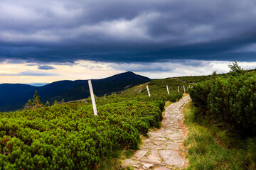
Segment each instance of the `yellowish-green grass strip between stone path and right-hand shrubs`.
M229 136L189 102L183 109L188 136L188 169L256 169L256 137Z

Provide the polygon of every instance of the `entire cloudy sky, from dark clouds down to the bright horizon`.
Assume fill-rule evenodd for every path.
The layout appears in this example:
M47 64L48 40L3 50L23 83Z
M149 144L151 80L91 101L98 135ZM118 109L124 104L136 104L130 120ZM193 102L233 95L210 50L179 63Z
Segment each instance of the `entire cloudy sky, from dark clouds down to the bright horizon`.
M255 0L1 0L0 83L256 67Z

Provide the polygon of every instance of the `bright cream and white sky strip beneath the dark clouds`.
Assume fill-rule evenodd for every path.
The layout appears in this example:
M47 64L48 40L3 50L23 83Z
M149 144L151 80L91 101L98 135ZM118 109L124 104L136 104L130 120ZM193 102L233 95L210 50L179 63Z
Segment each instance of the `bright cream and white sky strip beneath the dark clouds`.
M229 72L230 61L178 60L165 62L114 63L78 60L74 63L37 64L22 60L0 62L0 84L52 83L60 80L103 79L131 71L150 79L209 75ZM256 62L238 62L244 69L254 69ZM41 69L40 69L41 68ZM42 69L43 68L43 69Z

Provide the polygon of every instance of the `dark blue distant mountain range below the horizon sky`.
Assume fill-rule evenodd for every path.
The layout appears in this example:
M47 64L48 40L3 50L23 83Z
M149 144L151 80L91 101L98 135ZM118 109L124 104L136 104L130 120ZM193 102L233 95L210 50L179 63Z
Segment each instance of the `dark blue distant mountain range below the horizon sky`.
M93 91L96 96L104 96L113 92L122 91L128 87L150 81L133 72L116 74L105 79L92 79ZM90 96L87 80L55 81L44 86L31 86L28 84L0 84L0 111L15 111L23 108L35 91L43 103L55 100L74 101Z

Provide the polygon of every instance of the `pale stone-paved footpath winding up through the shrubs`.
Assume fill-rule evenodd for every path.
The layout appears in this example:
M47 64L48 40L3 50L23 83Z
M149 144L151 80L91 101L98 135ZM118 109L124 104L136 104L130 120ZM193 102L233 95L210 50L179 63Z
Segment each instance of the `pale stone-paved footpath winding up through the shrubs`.
M190 96L166 107L161 122L161 128L149 132L149 137L143 141L140 150L131 159L124 160L122 168L133 169L183 169L186 160L181 156L181 143L185 132L181 125L183 115L181 106L188 103Z

